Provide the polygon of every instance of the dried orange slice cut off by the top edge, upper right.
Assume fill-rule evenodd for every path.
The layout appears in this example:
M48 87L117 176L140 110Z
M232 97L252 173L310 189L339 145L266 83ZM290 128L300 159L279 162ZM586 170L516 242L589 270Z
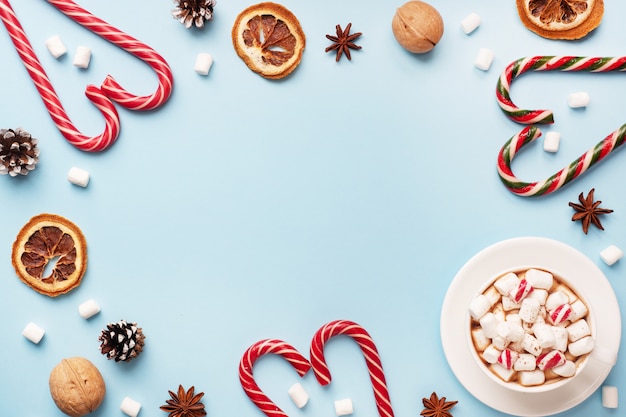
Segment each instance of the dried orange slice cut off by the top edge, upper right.
M604 0L516 0L524 26L548 39L580 39L600 25Z

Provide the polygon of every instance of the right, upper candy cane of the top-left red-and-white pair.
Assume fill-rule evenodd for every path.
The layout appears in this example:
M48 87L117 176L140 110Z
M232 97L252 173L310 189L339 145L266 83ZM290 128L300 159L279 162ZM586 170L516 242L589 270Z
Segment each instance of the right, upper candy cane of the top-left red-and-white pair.
M156 72L159 80L157 90L147 96L129 93L111 75L108 75L101 89L111 100L130 110L152 110L167 101L172 93L174 82L172 70L165 59L154 49L94 16L71 0L47 1L76 23L141 59Z

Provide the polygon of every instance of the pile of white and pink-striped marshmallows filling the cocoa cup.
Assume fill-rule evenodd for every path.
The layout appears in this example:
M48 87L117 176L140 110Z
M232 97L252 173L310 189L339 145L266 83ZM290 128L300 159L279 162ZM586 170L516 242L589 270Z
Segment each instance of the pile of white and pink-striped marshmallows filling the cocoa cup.
M505 382L536 386L572 377L595 345L585 303L544 270L501 276L469 312L477 353Z

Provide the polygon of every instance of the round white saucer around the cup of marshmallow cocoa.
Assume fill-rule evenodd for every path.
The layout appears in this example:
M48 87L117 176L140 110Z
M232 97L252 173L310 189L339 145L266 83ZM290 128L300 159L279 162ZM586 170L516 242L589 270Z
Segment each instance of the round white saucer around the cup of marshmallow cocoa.
M541 266L566 277L595 313L596 345L617 357L621 338L619 305L602 271L585 255L564 243L538 237L505 240L483 249L457 273L441 311L441 340L452 372L478 400L507 414L537 417L557 414L580 404L604 382L612 366L593 351L580 375L550 392L520 393L491 380L479 368L467 342L468 306L486 281L517 267Z

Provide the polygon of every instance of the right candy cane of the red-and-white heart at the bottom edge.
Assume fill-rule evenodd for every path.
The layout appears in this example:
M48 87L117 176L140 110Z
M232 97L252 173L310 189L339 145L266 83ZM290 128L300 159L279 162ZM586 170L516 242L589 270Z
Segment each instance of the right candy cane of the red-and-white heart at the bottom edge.
M369 333L360 325L347 320L332 321L320 328L311 342L311 365L315 377L321 385L328 385L331 381L330 371L324 358L324 346L329 339L338 335L350 336L359 345L372 381L374 398L380 417L393 417L391 399L385 380L385 373L380 361L378 349Z

